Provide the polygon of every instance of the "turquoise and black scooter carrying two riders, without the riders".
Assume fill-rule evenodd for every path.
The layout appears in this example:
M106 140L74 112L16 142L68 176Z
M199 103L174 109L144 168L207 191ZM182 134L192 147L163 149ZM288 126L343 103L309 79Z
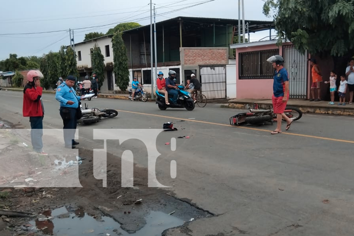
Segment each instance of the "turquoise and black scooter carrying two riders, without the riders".
M184 89L184 86L178 85L178 99L177 105L172 103L172 98L169 97L170 105L165 103L165 94L161 94L156 91L156 104L158 104L160 110L166 110L167 108L185 108L188 111L194 109L193 99L190 97L190 93Z

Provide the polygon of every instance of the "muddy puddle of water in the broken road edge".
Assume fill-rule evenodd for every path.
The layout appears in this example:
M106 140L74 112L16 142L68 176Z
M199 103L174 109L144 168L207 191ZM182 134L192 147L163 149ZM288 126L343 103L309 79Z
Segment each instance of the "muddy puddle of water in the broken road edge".
M33 230L39 230L44 235L121 235L121 236L161 236L166 229L177 227L184 222L181 219L163 212L150 212L145 217L146 225L134 234L120 228L120 224L110 217L93 218L82 209L61 207L42 213L49 219L36 219L29 222Z

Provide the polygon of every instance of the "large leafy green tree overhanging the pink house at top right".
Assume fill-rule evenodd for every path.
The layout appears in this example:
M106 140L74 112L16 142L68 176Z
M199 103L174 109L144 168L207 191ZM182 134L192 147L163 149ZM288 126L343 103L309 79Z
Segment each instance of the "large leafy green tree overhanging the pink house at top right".
M287 39L303 53L353 55L353 1L267 0L263 13L274 18L278 44Z

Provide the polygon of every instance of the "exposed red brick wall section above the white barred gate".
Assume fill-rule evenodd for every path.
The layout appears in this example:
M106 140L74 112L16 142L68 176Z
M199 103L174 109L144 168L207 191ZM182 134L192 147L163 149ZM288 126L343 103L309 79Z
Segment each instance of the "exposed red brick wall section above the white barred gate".
M227 48L182 48L183 65L228 64Z

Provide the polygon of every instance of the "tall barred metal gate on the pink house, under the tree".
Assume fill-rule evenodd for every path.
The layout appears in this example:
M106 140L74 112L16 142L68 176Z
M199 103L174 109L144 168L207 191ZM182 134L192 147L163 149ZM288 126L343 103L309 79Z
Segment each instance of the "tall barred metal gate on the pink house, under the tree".
M289 73L289 92L292 99L307 98L307 51L301 54L294 45L283 46L284 67Z

